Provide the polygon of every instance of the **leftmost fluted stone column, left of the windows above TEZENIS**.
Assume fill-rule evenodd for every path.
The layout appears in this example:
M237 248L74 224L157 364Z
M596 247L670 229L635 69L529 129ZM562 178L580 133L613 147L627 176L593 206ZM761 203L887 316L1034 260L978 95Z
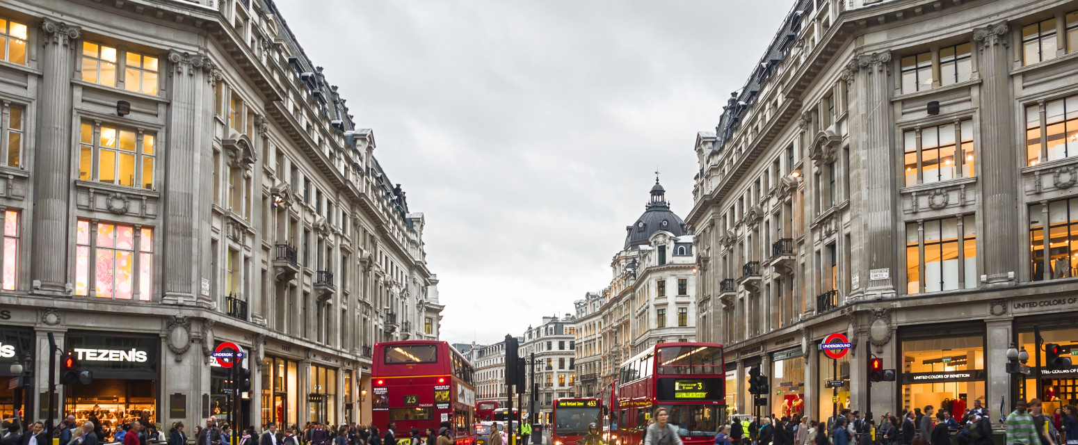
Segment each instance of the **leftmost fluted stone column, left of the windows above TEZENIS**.
M41 23L41 89L38 147L33 159L33 292L66 295L68 197L71 180L71 73L81 31L45 18Z

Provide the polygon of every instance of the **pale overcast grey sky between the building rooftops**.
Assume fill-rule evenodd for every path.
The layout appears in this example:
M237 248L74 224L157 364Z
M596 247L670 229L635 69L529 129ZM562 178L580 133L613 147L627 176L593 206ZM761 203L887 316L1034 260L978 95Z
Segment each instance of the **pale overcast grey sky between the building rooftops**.
M442 339L489 343L610 280L653 171L682 218L696 131L792 0L276 0L427 218Z

